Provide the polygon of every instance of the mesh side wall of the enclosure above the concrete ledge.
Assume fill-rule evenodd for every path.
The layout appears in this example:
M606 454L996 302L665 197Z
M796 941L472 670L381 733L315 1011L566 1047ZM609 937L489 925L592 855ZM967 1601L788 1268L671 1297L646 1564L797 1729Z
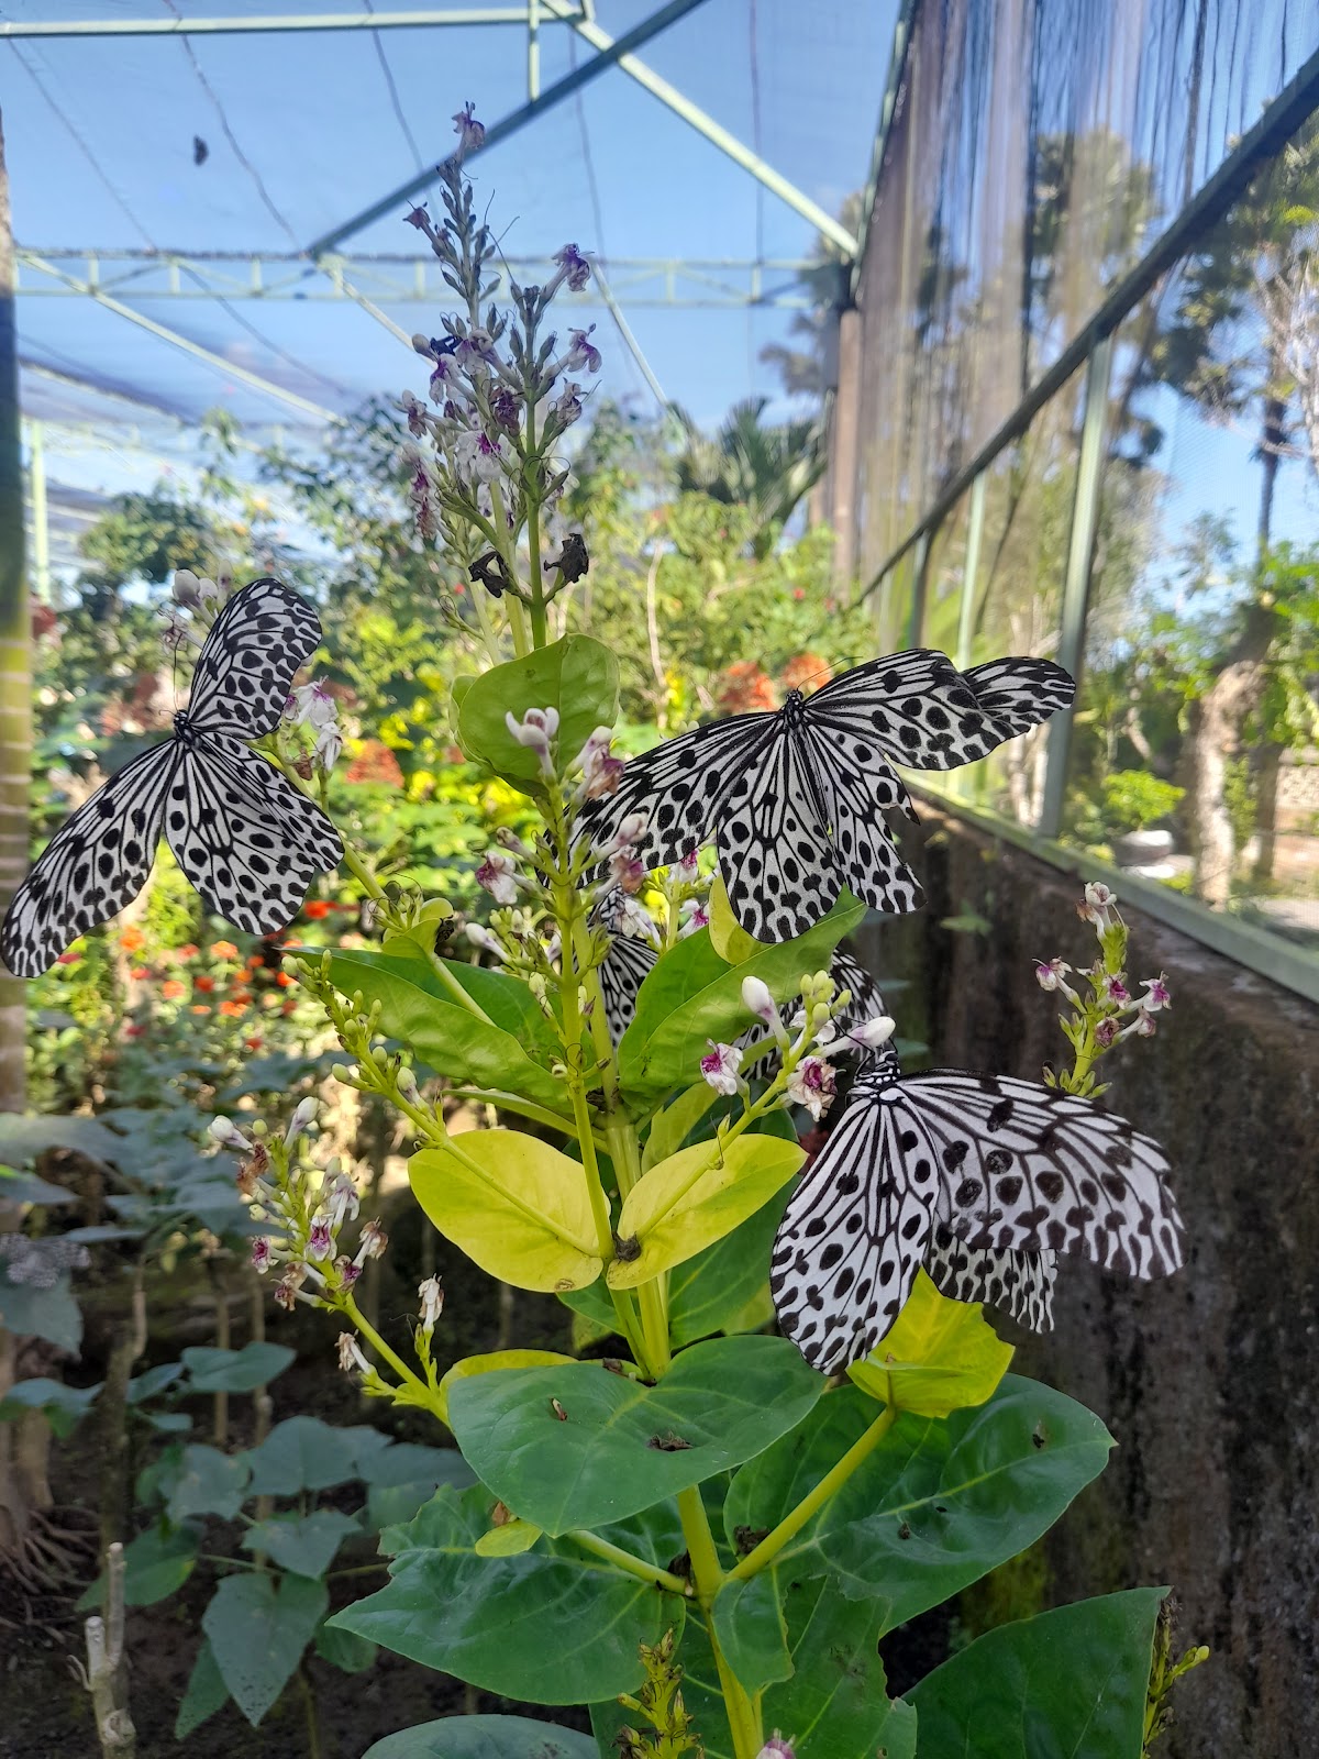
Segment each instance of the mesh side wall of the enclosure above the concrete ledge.
M950 804L1319 999L1315 51L1287 0L916 0L825 498L881 649L1080 677Z

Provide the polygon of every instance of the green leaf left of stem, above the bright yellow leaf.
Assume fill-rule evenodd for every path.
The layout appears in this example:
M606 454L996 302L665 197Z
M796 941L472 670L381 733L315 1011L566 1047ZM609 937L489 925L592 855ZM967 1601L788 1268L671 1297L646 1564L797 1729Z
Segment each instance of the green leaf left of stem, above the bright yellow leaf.
M368 1008L378 1001L382 1031L408 1045L436 1073L517 1092L568 1117L563 1084L533 1061L552 1062L563 1052L526 983L454 960L445 960L445 969L492 1024L455 1001L426 959L350 950L329 960L331 983L345 996L361 990Z

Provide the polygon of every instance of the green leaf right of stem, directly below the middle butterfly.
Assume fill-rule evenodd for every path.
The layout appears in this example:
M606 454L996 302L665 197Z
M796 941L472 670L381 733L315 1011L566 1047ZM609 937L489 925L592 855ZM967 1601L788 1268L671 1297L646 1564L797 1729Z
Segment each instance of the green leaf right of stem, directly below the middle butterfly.
M721 959L702 929L661 953L637 992L637 1013L619 1045L624 1096L652 1110L674 1087L698 1073L707 1040L732 1043L751 1025L742 1003L749 976L769 985L776 1001L800 994L805 973L827 971L834 948L865 918L865 904L844 892L830 913L795 941L770 946L740 966Z

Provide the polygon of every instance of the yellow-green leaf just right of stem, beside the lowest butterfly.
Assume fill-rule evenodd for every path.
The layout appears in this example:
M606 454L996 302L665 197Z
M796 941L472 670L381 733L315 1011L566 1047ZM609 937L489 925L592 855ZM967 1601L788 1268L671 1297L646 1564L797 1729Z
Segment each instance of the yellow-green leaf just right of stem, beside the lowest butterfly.
M769 1203L804 1159L798 1143L754 1135L723 1149L700 1142L670 1154L637 1180L623 1203L619 1240L635 1240L638 1252L614 1259L610 1288L637 1288L723 1240Z

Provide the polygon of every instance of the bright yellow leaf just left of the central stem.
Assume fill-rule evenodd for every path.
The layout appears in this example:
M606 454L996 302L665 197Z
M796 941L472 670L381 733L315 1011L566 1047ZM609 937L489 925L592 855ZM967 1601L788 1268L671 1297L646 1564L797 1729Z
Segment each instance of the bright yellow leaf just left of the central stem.
M517 1289L566 1293L601 1270L580 1161L512 1129L473 1129L408 1163L417 1201L473 1263Z

